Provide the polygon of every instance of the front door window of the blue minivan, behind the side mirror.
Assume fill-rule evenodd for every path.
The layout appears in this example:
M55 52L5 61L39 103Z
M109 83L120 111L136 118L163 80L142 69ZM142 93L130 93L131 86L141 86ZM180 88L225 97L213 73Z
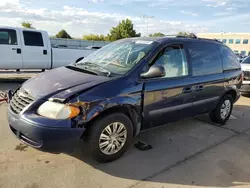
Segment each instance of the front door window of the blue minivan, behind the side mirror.
M164 78L174 78L188 75L188 65L182 45L167 46L156 58L153 65L165 68Z

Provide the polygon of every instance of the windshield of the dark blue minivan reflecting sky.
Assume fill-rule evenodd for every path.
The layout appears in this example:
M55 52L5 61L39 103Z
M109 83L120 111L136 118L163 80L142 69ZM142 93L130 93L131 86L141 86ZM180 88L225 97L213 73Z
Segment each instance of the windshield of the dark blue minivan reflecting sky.
M76 67L95 64L113 74L126 74L155 44L154 41L139 39L113 42L78 62Z

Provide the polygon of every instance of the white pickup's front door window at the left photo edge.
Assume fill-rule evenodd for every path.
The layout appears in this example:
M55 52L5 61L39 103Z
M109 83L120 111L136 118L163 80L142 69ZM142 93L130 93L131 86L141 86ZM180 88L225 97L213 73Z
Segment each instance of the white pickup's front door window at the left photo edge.
M16 31L12 29L0 29L0 45L17 45Z

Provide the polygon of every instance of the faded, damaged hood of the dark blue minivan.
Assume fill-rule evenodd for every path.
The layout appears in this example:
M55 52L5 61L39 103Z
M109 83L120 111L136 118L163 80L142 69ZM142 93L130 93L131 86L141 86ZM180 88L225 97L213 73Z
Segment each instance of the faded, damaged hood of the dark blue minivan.
M85 74L66 67L60 67L29 79L23 84L22 89L32 97L40 99L76 86L78 86L77 89L79 90L85 90L108 80L110 80L108 77ZM64 96L60 95L60 97L63 98Z

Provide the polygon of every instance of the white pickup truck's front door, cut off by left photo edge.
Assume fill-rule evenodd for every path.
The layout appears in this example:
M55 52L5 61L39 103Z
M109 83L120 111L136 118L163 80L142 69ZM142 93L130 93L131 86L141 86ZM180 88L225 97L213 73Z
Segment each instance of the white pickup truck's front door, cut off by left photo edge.
M0 28L0 69L21 69L22 50L15 29Z

